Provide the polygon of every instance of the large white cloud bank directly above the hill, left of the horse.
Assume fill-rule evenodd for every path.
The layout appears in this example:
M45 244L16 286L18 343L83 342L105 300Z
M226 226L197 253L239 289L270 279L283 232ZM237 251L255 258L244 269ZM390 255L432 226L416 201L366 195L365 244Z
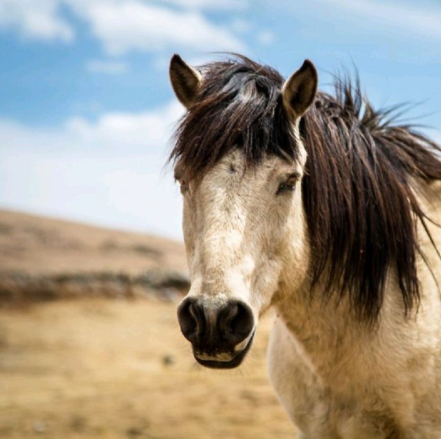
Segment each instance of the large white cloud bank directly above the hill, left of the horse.
M54 130L0 119L0 205L181 238L181 198L163 167L182 112L174 102Z

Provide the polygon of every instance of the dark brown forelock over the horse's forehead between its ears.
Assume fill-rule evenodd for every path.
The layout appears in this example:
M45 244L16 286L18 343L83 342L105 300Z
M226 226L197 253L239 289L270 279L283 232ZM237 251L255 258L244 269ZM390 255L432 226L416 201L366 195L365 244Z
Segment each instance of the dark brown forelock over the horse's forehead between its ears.
M188 178L200 180L236 147L247 166L265 155L298 159L280 95L283 77L276 70L240 55L200 70L201 90L178 125L170 154Z

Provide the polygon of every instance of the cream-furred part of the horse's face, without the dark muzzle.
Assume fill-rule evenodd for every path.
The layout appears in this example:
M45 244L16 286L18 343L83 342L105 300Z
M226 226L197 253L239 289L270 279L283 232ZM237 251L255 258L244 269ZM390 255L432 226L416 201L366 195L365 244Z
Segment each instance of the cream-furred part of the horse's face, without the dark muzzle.
M295 269L296 277L305 274L303 149L300 157L300 163L271 157L243 172L243 156L236 150L209 170L199 185L188 183L183 230L192 278L189 295L243 300L257 322L277 292L281 274L287 269ZM294 189L278 193L293 173L299 176ZM249 338L235 350L244 349Z

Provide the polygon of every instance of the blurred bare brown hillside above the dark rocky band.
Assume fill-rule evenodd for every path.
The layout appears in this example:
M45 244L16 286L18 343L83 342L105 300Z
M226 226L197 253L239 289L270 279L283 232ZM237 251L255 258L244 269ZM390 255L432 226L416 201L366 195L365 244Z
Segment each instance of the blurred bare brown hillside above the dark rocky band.
M1 269L30 274L186 270L183 245L156 236L0 210Z

